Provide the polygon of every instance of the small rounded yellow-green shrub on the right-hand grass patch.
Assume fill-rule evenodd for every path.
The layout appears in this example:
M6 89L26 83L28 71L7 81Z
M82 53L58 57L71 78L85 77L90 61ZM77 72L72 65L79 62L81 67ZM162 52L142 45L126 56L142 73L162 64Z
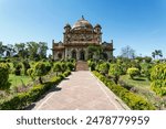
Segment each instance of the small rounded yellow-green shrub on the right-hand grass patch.
M134 79L135 76L141 75L141 72L139 72L139 69L136 68L136 67L131 67L131 68L127 69L127 74L129 75L129 77L131 77L132 79Z

